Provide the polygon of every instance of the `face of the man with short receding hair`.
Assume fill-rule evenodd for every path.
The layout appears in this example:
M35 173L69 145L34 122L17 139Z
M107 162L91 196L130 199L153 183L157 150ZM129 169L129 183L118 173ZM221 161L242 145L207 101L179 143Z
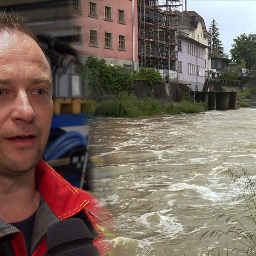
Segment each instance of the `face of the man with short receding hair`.
M49 64L23 33L0 35L0 175L18 176L43 155L53 114Z

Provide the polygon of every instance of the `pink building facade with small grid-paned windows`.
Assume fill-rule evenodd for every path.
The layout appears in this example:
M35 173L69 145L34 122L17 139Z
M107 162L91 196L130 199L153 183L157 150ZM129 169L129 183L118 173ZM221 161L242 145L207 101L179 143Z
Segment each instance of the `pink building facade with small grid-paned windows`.
M137 1L72 0L72 10L80 61L92 54L110 65L137 69Z

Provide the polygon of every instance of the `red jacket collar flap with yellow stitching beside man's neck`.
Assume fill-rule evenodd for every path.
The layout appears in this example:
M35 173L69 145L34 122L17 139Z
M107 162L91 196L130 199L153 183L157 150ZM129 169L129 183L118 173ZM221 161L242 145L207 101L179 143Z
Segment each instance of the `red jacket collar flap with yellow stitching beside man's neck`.
M90 194L68 183L43 159L35 167L35 182L46 203L60 219L75 215L94 200Z

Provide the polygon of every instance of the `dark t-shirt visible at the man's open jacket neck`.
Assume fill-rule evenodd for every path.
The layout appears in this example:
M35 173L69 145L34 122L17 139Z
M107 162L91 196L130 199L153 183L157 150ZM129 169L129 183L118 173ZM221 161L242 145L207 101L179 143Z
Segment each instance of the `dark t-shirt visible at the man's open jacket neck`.
M10 223L12 226L17 227L17 229L23 233L27 245L27 255L31 254L31 243L36 213L37 211L35 211L32 216L25 219L24 221Z

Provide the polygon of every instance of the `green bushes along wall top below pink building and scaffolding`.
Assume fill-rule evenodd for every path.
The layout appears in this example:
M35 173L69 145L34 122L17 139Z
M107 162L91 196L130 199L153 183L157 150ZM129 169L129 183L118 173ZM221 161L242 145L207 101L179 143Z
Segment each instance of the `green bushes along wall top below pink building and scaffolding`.
M163 82L159 72L152 68L142 68L139 72L122 66L107 65L104 59L90 55L80 65L80 73L84 87L84 96L93 98L96 95L104 96L104 93L117 95L119 93L131 93L134 82L145 80L152 85L154 82Z

